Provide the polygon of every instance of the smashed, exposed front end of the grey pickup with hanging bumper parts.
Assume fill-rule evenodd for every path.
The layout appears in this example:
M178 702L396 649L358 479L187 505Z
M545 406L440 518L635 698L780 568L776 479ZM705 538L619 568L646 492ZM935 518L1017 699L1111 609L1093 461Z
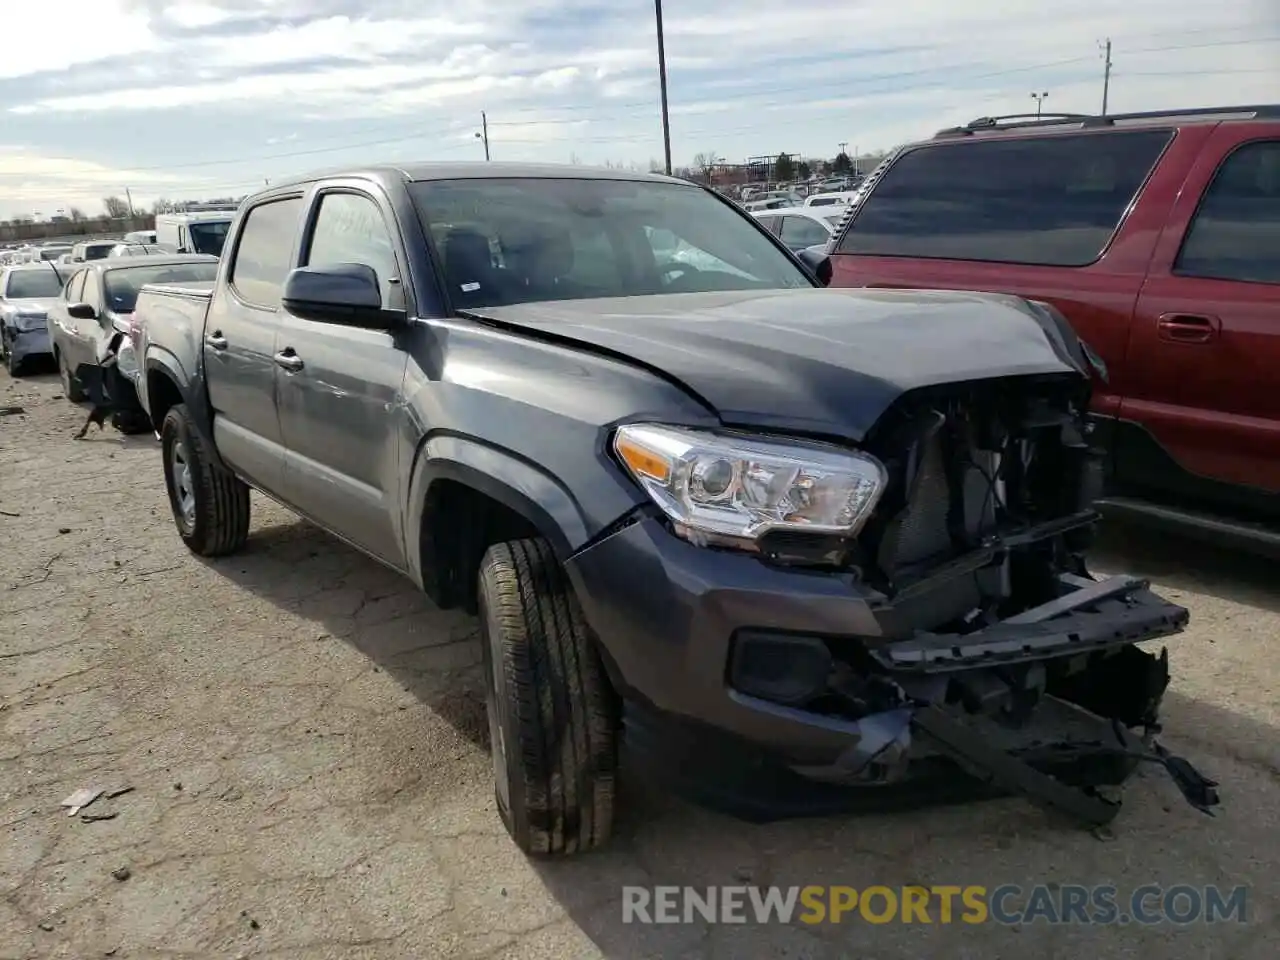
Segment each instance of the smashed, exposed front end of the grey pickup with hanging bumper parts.
M1119 801L1100 787L1152 762L1197 809L1219 803L1213 781L1156 742L1169 657L1137 645L1181 631L1188 611L1085 567L1102 476L1085 402L1078 379L1056 376L905 394L864 444L888 484L858 540L762 544L773 562L852 571L881 626L735 637L735 696L850 735L835 763L797 773L888 785L945 758L1105 824Z

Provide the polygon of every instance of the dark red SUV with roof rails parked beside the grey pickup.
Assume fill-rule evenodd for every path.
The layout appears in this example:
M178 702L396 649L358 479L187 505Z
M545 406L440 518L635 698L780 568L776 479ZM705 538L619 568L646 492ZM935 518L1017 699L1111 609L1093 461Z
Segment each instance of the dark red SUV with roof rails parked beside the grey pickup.
M1280 548L1280 106L984 118L896 151L833 287L1011 293L1102 360L1100 506Z

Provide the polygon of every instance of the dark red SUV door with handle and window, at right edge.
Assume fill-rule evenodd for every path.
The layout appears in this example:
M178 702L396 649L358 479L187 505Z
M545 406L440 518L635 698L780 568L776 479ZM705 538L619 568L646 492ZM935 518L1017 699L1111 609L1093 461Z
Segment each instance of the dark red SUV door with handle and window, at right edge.
M1217 128L1160 238L1133 337L1152 383L1123 416L1151 442L1124 451L1123 474L1265 508L1280 493L1280 124Z

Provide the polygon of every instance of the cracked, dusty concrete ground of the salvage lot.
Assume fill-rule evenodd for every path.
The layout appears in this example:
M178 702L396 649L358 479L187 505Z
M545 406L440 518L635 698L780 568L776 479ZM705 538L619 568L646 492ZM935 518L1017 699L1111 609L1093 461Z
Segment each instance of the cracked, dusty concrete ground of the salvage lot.
M83 411L52 376L0 371L5 406L26 412L0 416L0 957L1277 954L1262 564L1124 530L1097 561L1192 609L1166 741L1221 781L1217 818L1162 773L1130 783L1106 842L1016 800L758 827L625 782L612 847L535 865L494 812L467 617L261 498L243 556L204 563L151 438L73 442ZM84 786L133 791L83 822L59 803ZM1249 922L621 922L625 883L744 882L1249 884Z

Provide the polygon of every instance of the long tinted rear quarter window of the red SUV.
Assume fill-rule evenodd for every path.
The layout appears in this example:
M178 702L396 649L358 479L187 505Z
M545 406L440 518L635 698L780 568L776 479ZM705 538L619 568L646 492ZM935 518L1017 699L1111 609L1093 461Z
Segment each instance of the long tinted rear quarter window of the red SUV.
M837 252L1087 266L1171 136L1125 131L910 150L863 198Z

